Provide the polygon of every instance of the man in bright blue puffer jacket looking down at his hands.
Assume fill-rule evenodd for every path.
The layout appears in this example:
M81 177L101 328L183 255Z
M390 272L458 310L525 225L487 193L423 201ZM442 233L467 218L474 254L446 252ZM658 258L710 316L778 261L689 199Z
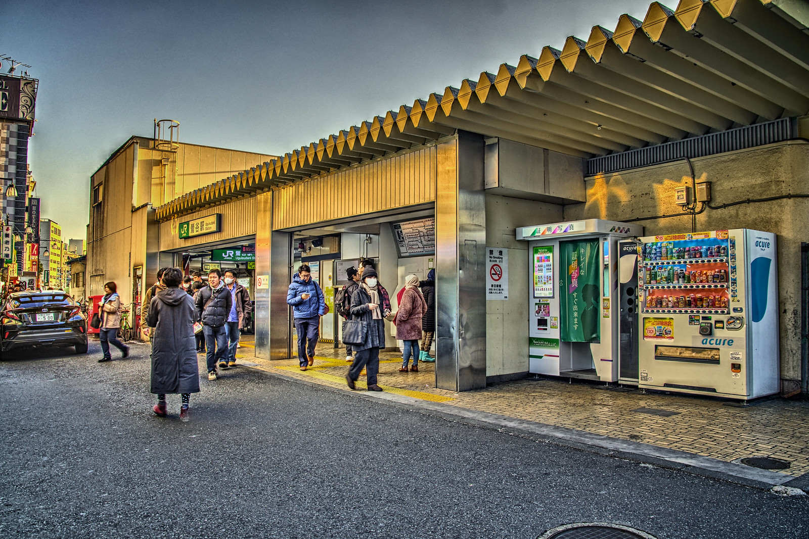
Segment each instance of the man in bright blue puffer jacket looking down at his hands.
M298 360L301 370L315 363L315 345L320 337L320 317L326 313L326 300L320 285L311 278L307 264L301 264L292 279L286 302L292 305L295 331L298 333ZM307 343L308 341L308 343Z

